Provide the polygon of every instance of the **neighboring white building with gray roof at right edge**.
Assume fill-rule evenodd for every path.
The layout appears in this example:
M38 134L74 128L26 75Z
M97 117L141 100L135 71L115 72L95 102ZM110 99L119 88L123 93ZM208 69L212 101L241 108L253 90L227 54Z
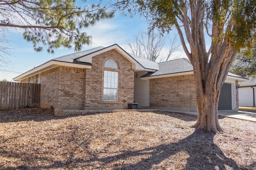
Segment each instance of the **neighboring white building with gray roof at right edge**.
M256 77L239 82L239 106L256 106Z

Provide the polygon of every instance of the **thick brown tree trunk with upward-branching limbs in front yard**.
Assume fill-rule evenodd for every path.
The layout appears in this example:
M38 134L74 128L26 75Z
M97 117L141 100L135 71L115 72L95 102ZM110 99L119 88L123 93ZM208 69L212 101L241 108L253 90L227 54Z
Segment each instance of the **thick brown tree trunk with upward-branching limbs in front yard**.
M189 6L187 6L188 4ZM188 12L188 9L190 9L190 12ZM220 7L218 9L220 10ZM194 68L198 110L198 119L195 124L196 130L204 129L212 133L223 131L218 122L218 100L221 86L228 75L237 51L232 48L228 37L221 36L224 22L218 22L217 18L212 18L212 35L210 35L212 44L210 49L206 50L204 0L182 4L181 12L182 27L184 28L190 51L184 41L181 26L178 22L175 26L180 36L182 47ZM227 27L232 27L232 24L228 23Z

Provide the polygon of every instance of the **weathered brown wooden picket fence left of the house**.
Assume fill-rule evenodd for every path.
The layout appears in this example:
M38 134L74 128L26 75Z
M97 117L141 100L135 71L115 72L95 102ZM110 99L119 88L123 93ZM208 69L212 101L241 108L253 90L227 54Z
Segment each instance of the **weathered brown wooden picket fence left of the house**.
M0 82L0 110L40 107L40 84Z

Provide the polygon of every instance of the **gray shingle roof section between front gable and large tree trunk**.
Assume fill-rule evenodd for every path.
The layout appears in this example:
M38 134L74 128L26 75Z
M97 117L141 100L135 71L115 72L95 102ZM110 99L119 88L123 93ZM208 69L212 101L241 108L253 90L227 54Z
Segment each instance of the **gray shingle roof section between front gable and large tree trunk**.
M158 67L159 70L156 72L149 72L142 77L193 71L192 64L188 59L185 58L158 63Z

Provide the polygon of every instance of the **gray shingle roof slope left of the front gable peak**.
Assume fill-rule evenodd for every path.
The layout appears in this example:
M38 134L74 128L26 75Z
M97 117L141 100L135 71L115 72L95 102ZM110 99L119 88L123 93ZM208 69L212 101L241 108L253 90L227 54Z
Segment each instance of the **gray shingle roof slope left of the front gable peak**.
M57 57L55 59L52 59L52 61L62 61L62 62L67 62L67 63L76 63L76 64L86 64L86 65L92 65L91 63L84 63L84 62L79 62L76 61L76 59L80 58L80 57L84 57L85 55L88 55L90 53L94 53L98 50L104 49L105 47L96 47L93 49L88 49L85 51L79 51L76 53L72 53L72 54L68 54L68 55L64 55L61 57Z

